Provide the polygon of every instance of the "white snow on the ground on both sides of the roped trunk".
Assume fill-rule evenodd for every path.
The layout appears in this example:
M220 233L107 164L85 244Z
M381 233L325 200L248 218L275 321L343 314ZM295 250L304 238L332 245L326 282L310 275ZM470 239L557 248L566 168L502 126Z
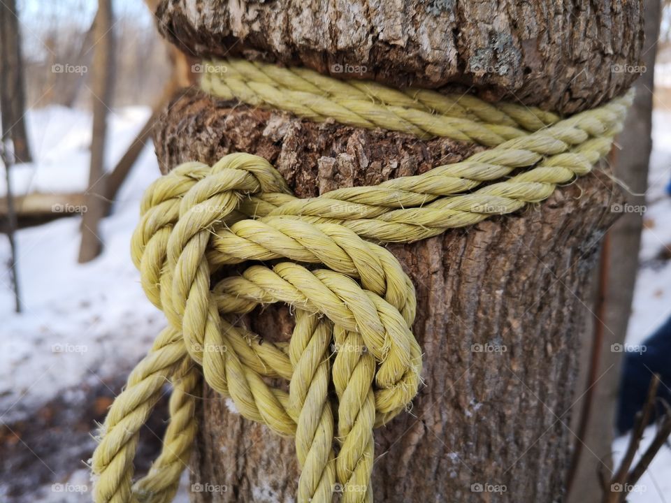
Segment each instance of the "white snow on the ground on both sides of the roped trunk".
M116 110L110 116L108 166L124 152L150 111ZM49 107L29 112L28 126L35 162L13 173L16 194L31 191L66 193L87 187L91 119L77 110ZM671 243L671 198L664 187L671 177L671 112L654 115L654 152L642 240L643 267L637 279L628 342L649 335L671 312L671 261L655 259ZM113 214L103 221L103 254L77 264L80 218L68 217L17 233L23 314L13 312L8 268L0 268L0 425L12 425L35 414L43 404L100 386L125 375L150 346L164 323L140 288L131 263L129 242L138 221L140 196L159 175L151 146L124 184ZM0 194L5 191L0 181ZM8 263L6 240L0 239L0 261ZM83 392L82 392L83 393ZM67 398L67 397L66 397ZM67 400L66 400L67 401ZM648 437L652 432L648 430ZM618 439L616 452L625 449ZM35 449L40 456L39 447ZM632 503L665 502L671 494L671 451L664 449L649 474L640 481ZM84 467L73 467L62 486L87 488ZM62 494L50 484L30 501L58 503L88 501L86 493ZM0 483L0 500L5 500Z

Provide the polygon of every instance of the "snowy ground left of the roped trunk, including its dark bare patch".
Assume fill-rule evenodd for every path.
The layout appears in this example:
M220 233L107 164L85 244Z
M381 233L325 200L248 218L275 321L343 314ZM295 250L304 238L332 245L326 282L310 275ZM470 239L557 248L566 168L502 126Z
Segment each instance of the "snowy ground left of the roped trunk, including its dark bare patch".
M149 115L148 108L110 114L107 166L120 159ZM11 172L15 194L84 191L90 115L51 106L31 110L27 117L35 162ZM102 222L105 247L90 263L77 263L78 216L17 233L22 314L13 312L10 251L7 240L0 239L0 431L8 430L22 443L16 460L8 453L1 456L5 474L15 475L0 481L0 501L91 499L89 472L80 460L94 446L89 430L100 411L87 411L87 404L93 393L118 393L164 323L140 288L129 252L140 197L159 174L150 143L120 190L113 214ZM0 193L6 191L4 175L2 179ZM13 495L8 494L10 483ZM184 494L182 490L182 501Z

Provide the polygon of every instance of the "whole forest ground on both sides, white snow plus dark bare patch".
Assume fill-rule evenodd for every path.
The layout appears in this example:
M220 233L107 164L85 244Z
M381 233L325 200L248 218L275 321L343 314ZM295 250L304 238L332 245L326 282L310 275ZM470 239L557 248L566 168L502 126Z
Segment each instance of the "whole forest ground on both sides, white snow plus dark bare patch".
M108 166L114 166L147 119L146 108L110 115ZM35 162L13 170L16 194L65 193L87 187L91 118L85 112L49 107L33 110L28 127ZM654 152L647 194L646 229L640 254L628 342L647 337L671 312L671 112L655 112ZM78 265L80 217L23 228L17 233L22 314L13 312L10 251L0 240L0 501L89 502L85 461L95 446L95 421L119 393L125 376L163 326L146 300L131 263L129 242L140 197L159 176L147 145L101 225L105 248ZM5 187L0 182L0 194ZM138 472L160 447L166 400L143 430ZM653 434L647 431L647 439ZM626 438L617 439L621 453ZM631 503L665 503L671 495L671 450L658 455L640 481L645 491ZM183 479L178 501L187 501Z

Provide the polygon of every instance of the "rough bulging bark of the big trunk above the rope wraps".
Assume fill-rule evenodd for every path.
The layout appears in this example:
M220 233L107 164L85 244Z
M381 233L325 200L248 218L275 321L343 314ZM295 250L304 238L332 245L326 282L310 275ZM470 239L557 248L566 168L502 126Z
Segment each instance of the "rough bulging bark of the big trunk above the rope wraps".
M575 112L637 77L643 3L161 0L157 18L193 56L244 55L397 87L456 86Z

